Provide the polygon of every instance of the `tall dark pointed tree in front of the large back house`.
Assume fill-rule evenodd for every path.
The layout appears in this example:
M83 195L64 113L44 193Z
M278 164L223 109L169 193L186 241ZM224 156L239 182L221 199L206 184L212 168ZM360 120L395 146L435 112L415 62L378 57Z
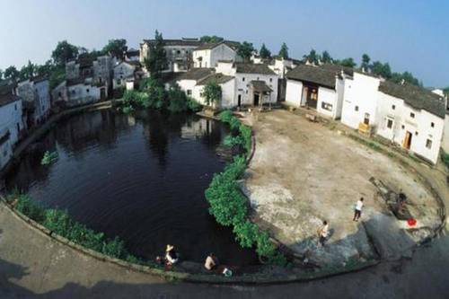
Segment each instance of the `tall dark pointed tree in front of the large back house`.
M150 77L159 79L162 72L167 68L167 53L163 42L163 34L159 31L154 33L154 43L150 44L148 56L145 59L145 67L150 72Z

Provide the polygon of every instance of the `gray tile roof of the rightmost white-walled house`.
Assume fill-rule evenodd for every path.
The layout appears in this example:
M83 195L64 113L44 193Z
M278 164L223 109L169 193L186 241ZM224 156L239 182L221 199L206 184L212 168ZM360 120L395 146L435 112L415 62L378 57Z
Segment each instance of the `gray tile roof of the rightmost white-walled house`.
M400 98L417 110L426 110L445 119L445 100L434 92L415 85L395 84L391 81L381 82L379 91Z

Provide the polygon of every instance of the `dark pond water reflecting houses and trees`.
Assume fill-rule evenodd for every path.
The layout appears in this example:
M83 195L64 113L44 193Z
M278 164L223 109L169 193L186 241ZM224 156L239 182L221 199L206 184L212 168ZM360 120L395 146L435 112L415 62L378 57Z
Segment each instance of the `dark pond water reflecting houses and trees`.
M31 145L6 184L118 235L145 259L171 243L182 259L202 262L214 251L227 264L256 264L254 252L207 213L204 190L231 156L222 145L226 134L221 123L192 115L85 112ZM56 163L40 165L45 150L57 151Z

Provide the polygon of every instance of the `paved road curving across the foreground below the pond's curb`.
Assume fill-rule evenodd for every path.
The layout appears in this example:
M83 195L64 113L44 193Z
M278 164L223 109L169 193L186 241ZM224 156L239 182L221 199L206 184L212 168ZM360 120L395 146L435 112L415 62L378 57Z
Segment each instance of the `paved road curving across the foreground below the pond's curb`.
M0 205L0 298L449 298L449 236L412 260L277 286L210 286L129 272L73 251Z

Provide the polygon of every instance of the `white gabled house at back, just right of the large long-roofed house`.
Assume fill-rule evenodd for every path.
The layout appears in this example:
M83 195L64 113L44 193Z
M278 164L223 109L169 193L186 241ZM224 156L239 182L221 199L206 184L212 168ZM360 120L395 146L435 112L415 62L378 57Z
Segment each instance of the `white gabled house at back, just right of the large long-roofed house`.
M218 61L242 62L243 59L237 55L237 47L240 43L236 41L221 41L217 43L204 44L192 51L194 67L216 67Z

